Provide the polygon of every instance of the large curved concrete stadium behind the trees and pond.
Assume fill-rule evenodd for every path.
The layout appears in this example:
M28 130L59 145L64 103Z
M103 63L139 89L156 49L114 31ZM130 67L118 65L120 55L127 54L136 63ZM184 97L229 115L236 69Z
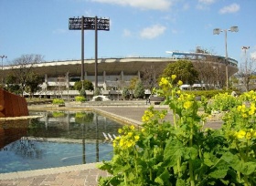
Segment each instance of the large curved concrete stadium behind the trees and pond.
M123 57L123 58L98 58L97 63L97 88L101 88L101 94L109 96L111 99L120 99L123 86L128 86L134 77L142 78L144 70L152 70L151 77L157 78L157 72L163 72L165 67L180 59L188 59L192 63L198 61L211 66L218 66L225 76L225 67L229 69L229 77L238 72L238 61L225 57L211 55L200 51L196 52L166 52L170 57ZM20 66L2 67L2 76L5 78L13 69ZM84 79L89 80L95 87L95 59L84 60ZM224 69L224 71L223 71ZM37 63L33 65L33 70L37 74L44 76L44 83L41 90L34 96L40 98L63 98L72 100L79 95L79 91L74 90L76 81L80 81L81 60L65 60ZM88 99L93 96L93 91L86 91ZM150 94L145 90L145 94ZM25 94L26 95L26 94Z

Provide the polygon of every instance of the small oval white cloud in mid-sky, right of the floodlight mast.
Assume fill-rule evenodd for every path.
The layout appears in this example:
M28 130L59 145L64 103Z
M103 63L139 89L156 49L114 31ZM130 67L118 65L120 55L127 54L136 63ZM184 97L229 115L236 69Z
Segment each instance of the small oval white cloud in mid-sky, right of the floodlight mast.
M165 26L160 25L146 27L141 31L140 36L142 38L153 39L157 36L162 35L165 32L165 29Z

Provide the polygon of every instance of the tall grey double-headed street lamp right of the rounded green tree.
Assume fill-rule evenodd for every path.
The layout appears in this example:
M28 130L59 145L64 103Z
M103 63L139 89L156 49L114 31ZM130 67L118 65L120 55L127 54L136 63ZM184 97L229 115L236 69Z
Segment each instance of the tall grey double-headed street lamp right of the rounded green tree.
M238 26L231 26L229 29L220 29L220 28L215 28L213 29L213 34L214 35L219 35L220 32L225 32L225 51L226 51L226 56L225 56L225 63L226 63L226 81L227 81L227 87L226 89L229 89L229 59L228 59L228 46L227 46L227 33L228 31L230 32L238 32L239 27Z

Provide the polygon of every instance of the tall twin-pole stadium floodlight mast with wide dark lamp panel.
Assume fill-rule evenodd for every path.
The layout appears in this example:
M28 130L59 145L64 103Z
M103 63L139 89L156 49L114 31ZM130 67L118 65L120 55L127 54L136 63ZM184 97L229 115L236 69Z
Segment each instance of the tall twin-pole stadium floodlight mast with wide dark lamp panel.
M98 30L109 31L110 19L97 16L71 17L69 30L81 30L81 80L84 80L84 30L95 30L95 88L98 88Z

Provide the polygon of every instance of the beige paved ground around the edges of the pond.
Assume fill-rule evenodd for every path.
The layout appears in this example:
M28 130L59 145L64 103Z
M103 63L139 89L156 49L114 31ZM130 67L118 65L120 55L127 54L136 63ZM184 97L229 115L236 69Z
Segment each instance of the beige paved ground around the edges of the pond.
M80 108L83 106L81 105ZM88 107L88 106L85 106ZM128 121L134 124L141 124L141 118L148 105L137 106L93 106L101 113L111 116L114 119ZM37 108L34 108L37 109ZM162 106L155 106L155 109L165 109ZM167 117L172 117L168 113ZM219 122L208 122L207 126L219 128ZM38 171L19 171L14 173L0 174L0 186L37 186L37 185L66 185L66 186L93 186L98 185L100 176L108 176L107 172L97 169L97 163L61 167Z

